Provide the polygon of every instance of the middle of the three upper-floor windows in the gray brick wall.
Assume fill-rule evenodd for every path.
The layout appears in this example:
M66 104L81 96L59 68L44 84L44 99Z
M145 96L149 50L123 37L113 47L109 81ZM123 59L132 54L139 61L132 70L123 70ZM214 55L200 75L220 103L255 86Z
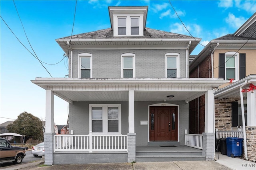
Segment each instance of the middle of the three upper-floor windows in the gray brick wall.
M135 54L125 53L122 57L121 78L135 77Z

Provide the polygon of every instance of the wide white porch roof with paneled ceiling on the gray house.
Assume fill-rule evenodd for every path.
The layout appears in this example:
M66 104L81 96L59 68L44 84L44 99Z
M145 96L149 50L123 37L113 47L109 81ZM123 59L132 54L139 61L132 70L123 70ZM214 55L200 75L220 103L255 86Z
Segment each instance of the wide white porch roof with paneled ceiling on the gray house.
M135 91L135 101L189 102L227 81L222 78L36 78L31 82L73 103L126 102L129 90ZM174 98L167 98L169 95Z

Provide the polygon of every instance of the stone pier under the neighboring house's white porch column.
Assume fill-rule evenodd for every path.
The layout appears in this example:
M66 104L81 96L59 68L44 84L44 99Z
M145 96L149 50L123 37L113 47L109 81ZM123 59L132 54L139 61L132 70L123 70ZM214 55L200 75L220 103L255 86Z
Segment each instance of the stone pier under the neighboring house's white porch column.
M256 126L246 127L247 157L256 162Z

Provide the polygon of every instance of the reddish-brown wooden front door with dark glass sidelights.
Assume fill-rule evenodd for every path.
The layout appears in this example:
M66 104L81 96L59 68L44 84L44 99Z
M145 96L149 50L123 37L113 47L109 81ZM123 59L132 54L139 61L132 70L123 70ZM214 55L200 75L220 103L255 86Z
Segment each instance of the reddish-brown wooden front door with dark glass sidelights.
M150 141L177 141L177 107L150 107Z

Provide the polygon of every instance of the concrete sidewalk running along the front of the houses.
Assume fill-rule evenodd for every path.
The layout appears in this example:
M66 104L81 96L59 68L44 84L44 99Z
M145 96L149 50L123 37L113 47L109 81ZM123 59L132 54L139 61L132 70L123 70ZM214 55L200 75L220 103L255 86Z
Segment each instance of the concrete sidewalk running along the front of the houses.
M43 160L1 167L1 170L255 170L256 163L216 153L216 161L136 162L45 166Z

